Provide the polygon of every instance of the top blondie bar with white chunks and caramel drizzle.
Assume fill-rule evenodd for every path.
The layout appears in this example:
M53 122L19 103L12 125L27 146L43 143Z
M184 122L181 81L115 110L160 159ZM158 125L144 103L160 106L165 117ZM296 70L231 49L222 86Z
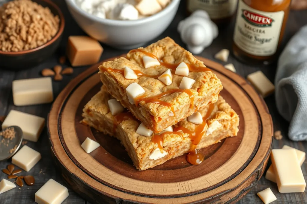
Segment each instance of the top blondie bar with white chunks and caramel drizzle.
M215 103L222 83L169 37L99 66L109 93L158 133Z

